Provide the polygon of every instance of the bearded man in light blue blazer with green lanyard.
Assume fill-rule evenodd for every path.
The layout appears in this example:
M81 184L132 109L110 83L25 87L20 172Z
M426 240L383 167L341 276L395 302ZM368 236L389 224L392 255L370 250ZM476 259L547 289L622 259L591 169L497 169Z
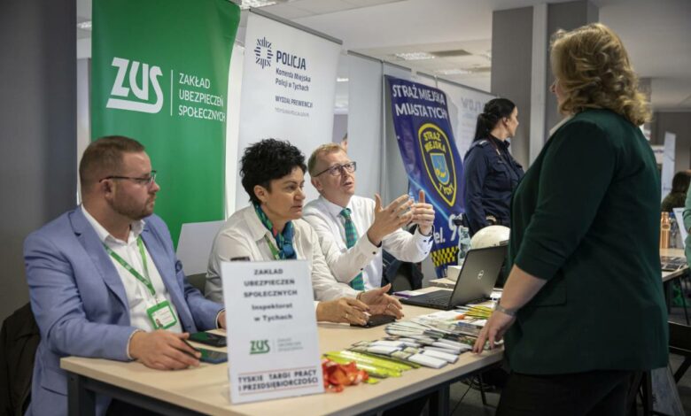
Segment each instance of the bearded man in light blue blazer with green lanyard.
M182 369L198 366L198 352L182 341L189 333L225 327L222 305L190 286L166 224L153 215L160 188L144 146L120 136L98 139L84 151L79 173L82 205L24 246L41 330L27 414L67 413L62 357ZM110 402L97 396L97 414Z

